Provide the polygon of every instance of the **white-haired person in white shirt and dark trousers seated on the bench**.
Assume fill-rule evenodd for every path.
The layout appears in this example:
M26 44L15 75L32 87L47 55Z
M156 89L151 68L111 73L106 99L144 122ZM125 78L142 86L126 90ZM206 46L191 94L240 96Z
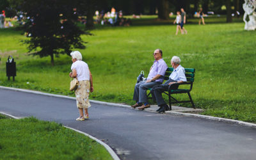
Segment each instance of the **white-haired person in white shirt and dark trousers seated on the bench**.
M171 64L173 67L173 72L169 79L164 84L156 85L151 89L152 98L156 100L157 105L160 107L157 109L159 113L164 113L164 111L170 110L169 106L166 104L166 102L164 102L162 93L167 91L171 84L173 84L172 90L175 90L179 87L179 85L174 83L182 83L187 81L185 76L185 69L180 65L180 58L173 56Z

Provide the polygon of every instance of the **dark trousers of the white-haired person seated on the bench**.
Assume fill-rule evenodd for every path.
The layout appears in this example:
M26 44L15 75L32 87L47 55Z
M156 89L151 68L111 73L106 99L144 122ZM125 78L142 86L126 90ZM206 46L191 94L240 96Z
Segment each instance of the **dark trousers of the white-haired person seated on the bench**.
M159 85L156 85L154 86L152 89L151 89L151 95L152 95L152 98L154 100L156 100L157 102L157 105L158 106L163 106L163 104L166 104L166 102L164 102L164 99L163 99L163 96L162 96L162 93L164 91L168 91L168 88L169 88L169 83L171 82L176 82L174 81L173 79L169 79L168 81L166 81L164 84L159 84ZM172 89L175 90L178 88L178 85L174 85L172 86Z

